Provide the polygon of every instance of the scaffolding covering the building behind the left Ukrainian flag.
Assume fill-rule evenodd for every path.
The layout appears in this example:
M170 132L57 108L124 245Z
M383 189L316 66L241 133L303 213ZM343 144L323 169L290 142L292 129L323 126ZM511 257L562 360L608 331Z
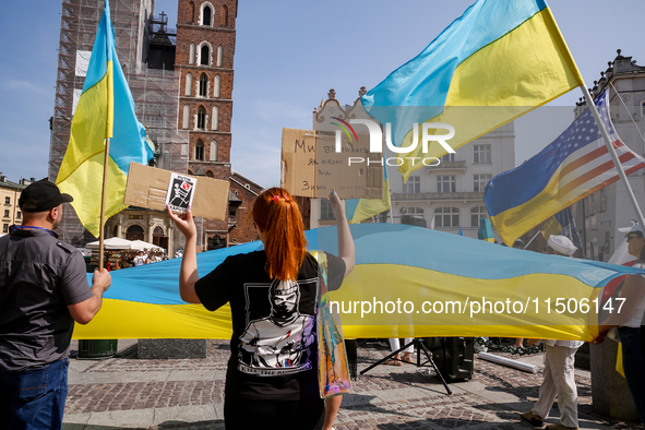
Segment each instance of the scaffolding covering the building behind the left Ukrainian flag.
M157 145L157 167L186 174L189 159L189 133L177 129L179 114L179 71L150 69L143 62L150 40L166 29L154 16L153 0L109 0L117 56L135 103L136 117L146 126ZM84 75L76 71L77 51L92 51L104 4L96 0L62 0L58 70L51 142L49 180L56 181L70 140L71 121ZM163 16L162 16L163 20ZM95 240L79 220L73 207L65 205L61 239L75 247ZM180 243L176 236L176 243Z

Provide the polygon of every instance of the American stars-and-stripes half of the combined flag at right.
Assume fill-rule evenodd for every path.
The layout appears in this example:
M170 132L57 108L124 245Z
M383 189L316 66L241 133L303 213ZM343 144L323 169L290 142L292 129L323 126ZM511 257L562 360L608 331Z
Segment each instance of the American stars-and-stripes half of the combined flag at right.
M608 89L598 96L596 106L625 174L645 167L645 158L632 152L616 133L609 118ZM558 200L577 201L619 179L590 109L585 110L551 145L557 150L554 163L560 165L556 182Z

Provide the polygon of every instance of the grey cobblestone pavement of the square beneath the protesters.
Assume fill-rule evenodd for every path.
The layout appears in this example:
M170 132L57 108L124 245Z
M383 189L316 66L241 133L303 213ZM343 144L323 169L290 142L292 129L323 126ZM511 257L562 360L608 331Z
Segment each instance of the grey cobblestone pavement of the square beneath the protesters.
M134 344L118 358L72 360L63 428L224 428L228 342L208 341L207 349L205 359L140 360ZM387 349L378 344L359 348L359 370L386 354ZM533 362L541 360L534 356ZM417 371L409 365L378 367L353 383L353 393L344 397L335 427L530 429L521 421L518 411L530 409L537 401L541 373L479 359L475 369L471 381L451 384L454 393L449 396L432 370ZM581 428L643 429L595 415L588 373L576 375L576 383ZM552 415L558 415L557 408ZM557 422L557 418L547 422Z

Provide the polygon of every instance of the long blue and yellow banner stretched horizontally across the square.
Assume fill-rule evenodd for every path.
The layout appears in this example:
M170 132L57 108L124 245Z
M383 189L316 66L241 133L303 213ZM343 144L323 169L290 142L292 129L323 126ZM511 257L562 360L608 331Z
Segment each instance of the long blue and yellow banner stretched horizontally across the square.
M350 228L357 264L329 297L348 338L590 341L601 287L616 276L645 274L401 224ZM335 227L307 231L307 239L312 250L337 252ZM251 242L198 254L200 274L258 249L261 243ZM74 337L229 338L229 308L210 312L179 298L180 264L176 259L112 272L103 309L89 324L76 324Z

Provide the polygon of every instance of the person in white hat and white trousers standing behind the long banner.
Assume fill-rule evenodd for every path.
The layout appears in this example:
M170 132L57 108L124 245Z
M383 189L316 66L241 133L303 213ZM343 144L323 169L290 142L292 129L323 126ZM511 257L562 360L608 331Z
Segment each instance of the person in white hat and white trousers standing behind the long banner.
M577 248L565 236L550 236L548 240L550 254L571 256ZM539 398L533 409L522 414L522 418L536 427L542 427L544 419L549 416L551 406L558 397L560 422L548 426L550 430L578 429L577 426L577 389L574 380L575 351L584 342L581 341L545 341L545 380L540 386Z

